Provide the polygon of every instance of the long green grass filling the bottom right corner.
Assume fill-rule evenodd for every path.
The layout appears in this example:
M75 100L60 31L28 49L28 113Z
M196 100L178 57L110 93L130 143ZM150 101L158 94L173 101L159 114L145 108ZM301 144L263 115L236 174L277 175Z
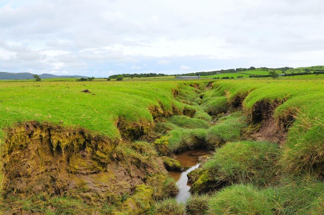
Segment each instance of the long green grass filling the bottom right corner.
M207 214L323 214L323 182L298 178L283 183L267 189L226 187L210 198Z

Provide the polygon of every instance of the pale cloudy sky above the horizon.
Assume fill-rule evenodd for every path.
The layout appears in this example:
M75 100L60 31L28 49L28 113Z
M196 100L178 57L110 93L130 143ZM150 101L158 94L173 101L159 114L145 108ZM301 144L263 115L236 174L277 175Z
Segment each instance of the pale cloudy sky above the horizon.
M108 77L324 65L322 0L0 0L0 71Z

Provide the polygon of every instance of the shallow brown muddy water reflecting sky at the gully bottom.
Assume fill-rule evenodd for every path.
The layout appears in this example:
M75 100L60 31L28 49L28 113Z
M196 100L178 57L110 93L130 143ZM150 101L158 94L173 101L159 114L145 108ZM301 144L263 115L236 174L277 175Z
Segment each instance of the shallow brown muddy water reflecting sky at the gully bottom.
M174 158L185 167L183 172L170 171L169 174L177 181L179 187L179 194L177 196L178 202L185 202L189 197L190 183L188 182L187 174L190 171L199 167L199 156L207 155L208 152L202 149L188 150L181 154L177 154Z

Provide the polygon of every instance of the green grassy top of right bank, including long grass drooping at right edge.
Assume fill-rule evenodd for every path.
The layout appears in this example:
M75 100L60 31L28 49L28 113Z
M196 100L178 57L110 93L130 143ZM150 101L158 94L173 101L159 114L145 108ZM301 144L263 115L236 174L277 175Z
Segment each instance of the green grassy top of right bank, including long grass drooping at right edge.
M242 108L249 117L259 102L268 101L269 105L275 102L278 105L272 107L275 121L278 125L284 123L285 128L289 126L280 155L283 171L323 175L320 169L324 163L324 80L222 80L214 82L213 88L215 95L225 95L229 103L237 95L247 95Z

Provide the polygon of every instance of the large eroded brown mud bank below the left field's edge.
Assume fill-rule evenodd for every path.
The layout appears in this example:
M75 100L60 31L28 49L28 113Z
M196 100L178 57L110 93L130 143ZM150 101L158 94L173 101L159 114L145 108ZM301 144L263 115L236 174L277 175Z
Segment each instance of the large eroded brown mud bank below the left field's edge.
M5 196L71 196L105 204L133 194L145 181L145 171L110 159L118 141L34 121L7 133Z

